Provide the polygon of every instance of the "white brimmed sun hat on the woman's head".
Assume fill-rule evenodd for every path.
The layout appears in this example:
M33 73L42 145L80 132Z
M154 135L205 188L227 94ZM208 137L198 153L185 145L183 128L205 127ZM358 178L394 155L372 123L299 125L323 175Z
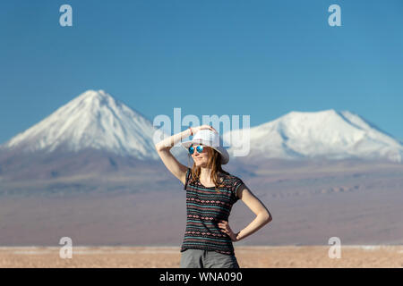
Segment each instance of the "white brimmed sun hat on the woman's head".
M188 150L192 144L202 144L215 149L221 155L221 164L227 164L229 161L227 149L223 147L223 140L216 131L209 129L198 130L192 140L181 142L181 145L186 150Z

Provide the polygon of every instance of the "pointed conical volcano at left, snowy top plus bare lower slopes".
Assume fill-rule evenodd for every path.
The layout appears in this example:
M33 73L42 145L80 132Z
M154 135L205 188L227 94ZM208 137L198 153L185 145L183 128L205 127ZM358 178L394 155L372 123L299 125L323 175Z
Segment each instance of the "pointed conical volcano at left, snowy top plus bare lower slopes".
M88 90L0 146L0 181L77 176L99 181L157 172L163 164L154 138L162 134L105 91ZM184 148L173 148L172 153L187 163ZM126 183L133 187L133 182Z

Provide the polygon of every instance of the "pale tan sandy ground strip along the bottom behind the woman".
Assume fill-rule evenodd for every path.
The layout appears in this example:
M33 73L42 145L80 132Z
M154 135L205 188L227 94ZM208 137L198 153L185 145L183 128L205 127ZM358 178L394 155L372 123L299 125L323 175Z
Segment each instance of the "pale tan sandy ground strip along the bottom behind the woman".
M340 258L330 246L238 247L241 268L403 267L403 246L342 246ZM134 267L179 268L176 247L75 247L72 258L60 248L0 248L0 267Z

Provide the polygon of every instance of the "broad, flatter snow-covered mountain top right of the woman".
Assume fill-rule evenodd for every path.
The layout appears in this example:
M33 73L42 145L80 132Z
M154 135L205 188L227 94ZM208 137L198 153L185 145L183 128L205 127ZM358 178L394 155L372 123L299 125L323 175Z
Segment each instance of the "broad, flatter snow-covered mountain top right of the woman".
M249 146L247 156L260 158L364 158L397 163L403 158L398 139L348 111L294 111L246 131L249 134L242 135L242 130L224 134L232 156Z

